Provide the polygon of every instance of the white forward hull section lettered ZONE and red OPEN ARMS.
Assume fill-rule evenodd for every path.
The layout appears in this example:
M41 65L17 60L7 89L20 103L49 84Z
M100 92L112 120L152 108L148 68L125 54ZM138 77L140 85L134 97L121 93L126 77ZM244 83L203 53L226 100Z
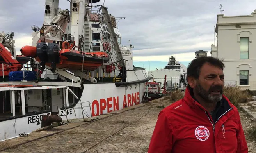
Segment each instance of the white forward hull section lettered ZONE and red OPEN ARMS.
M59 108L59 116L63 120L91 118L138 105L142 101L144 89L145 83L127 87L116 87L114 83L97 84L93 87L87 84L84 85L81 101L74 108Z

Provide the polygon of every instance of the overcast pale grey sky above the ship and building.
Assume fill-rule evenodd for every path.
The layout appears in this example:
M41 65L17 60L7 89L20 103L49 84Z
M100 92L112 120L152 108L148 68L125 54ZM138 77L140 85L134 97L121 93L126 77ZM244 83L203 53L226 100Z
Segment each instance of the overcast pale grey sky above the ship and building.
M102 5L101 0L98 5ZM31 26L41 27L44 0L0 0L0 31L14 31L16 50L31 45ZM191 61L197 50L209 51L213 44L213 26L219 8L225 16L249 15L255 0L105 0L108 12L126 17L118 23L122 44L135 46L134 61ZM69 2L59 0L59 7L69 9ZM216 41L215 41L216 42Z

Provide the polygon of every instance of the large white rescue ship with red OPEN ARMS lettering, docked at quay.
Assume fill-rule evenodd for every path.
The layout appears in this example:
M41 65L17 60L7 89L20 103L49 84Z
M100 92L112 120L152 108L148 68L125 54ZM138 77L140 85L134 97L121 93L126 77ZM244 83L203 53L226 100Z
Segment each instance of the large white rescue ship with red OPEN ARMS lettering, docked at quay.
M69 122L142 102L151 78L145 68L133 66L132 45L121 45L115 17L105 6L92 5L99 1L71 0L70 10L62 10L59 0L46 0L42 28L33 25L32 46L21 49L31 65L15 61L19 67L10 71L0 63L0 141L43 127L45 114ZM12 54L2 50L14 63ZM51 77L41 78L40 71L46 70Z

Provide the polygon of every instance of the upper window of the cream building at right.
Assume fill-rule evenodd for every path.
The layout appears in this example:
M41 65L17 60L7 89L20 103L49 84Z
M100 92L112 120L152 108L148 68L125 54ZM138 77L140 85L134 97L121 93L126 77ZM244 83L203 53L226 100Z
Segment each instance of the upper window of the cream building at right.
M249 59L249 37L240 37L240 59Z

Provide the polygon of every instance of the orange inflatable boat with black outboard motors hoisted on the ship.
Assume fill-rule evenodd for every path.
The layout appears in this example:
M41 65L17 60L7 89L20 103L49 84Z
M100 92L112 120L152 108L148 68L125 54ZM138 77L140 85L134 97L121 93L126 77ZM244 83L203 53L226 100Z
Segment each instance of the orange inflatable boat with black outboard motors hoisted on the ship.
M104 63L107 63L110 59L109 55L105 52L79 52L71 49L62 49L59 52L52 54L50 52L50 44L48 44L48 49L45 49L46 52L43 53L45 56L41 58L45 60L45 65L52 67L52 63L56 63L56 68L69 68L73 70L96 70L96 68L100 67ZM47 45L46 45L47 46ZM70 48L69 46L67 48ZM27 57L36 58L36 61L41 61L40 57L42 57L40 51L37 54L37 51L40 50L40 47L34 46L24 46L21 48L21 53ZM54 57L53 57L54 56ZM56 57L55 57L56 56Z

